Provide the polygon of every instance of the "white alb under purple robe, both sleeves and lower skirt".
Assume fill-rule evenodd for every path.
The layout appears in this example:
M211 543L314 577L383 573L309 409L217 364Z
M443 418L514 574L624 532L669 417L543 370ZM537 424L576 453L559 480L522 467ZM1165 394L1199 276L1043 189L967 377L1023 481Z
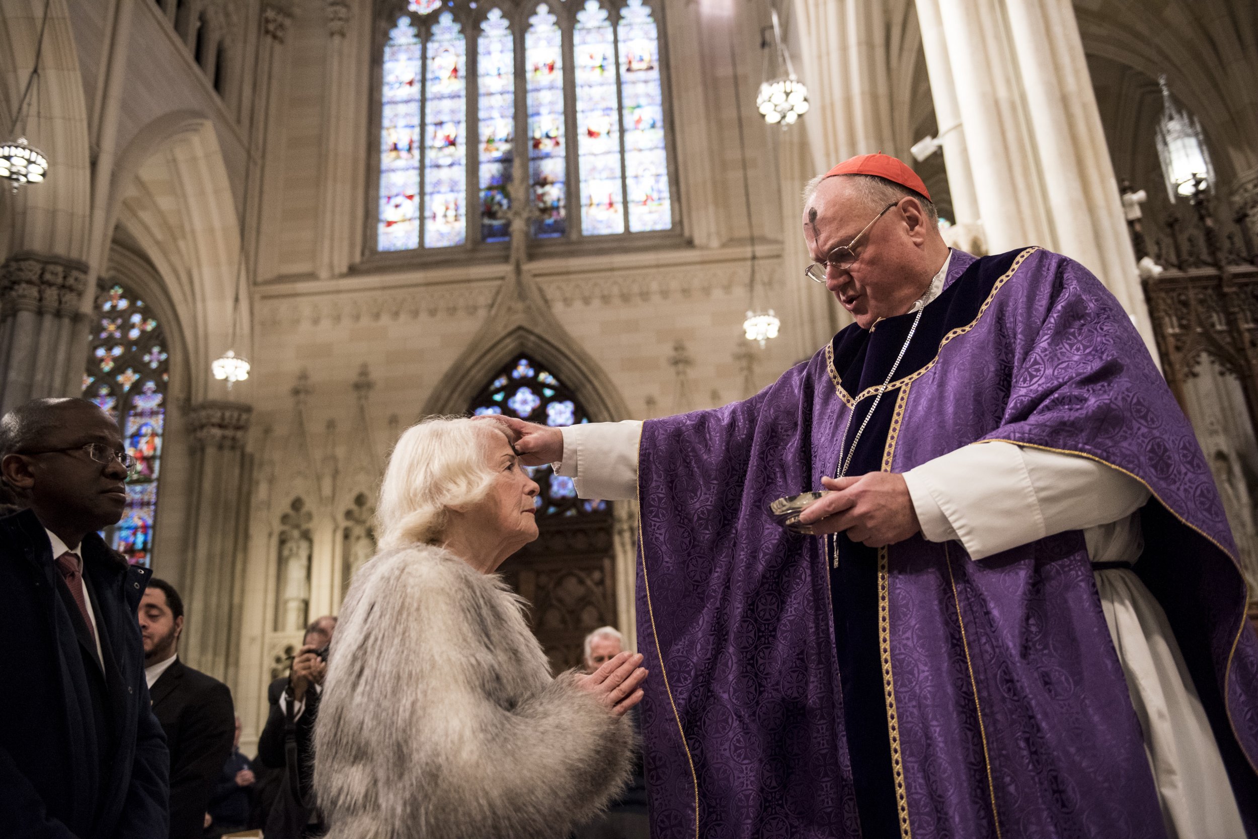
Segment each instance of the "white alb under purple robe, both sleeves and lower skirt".
M637 497L642 422L587 423L562 433L556 471L575 479L577 495ZM1149 490L1086 457L989 442L922 463L905 472L905 481L922 536L960 541L974 560L1067 530L1083 531L1094 564L1135 564L1144 550L1140 507ZM1130 568L1097 570L1096 582L1167 835L1243 839L1223 759L1162 608Z

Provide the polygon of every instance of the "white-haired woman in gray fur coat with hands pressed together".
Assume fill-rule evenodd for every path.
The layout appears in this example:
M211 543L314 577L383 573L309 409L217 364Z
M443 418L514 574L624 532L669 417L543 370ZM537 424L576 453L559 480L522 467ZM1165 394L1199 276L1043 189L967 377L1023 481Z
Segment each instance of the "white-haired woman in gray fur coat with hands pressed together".
M398 441L314 726L330 839L564 836L625 784L642 656L552 678L493 573L537 538L537 494L498 423Z

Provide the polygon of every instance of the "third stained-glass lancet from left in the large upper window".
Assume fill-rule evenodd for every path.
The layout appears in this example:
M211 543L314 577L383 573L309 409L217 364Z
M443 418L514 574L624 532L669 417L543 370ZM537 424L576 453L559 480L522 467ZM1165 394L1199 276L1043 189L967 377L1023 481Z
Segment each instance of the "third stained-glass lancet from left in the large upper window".
M481 240L511 236L511 161L516 136L516 51L511 26L492 9L477 41L481 121Z

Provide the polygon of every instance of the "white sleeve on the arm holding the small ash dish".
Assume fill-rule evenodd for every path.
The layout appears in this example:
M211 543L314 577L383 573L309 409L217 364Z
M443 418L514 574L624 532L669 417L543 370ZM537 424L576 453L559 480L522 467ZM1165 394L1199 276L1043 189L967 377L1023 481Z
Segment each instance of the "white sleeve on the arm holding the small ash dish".
M959 539L972 559L1120 521L1149 501L1140 481L1105 463L1005 442L949 452L908 471L905 481L922 535Z

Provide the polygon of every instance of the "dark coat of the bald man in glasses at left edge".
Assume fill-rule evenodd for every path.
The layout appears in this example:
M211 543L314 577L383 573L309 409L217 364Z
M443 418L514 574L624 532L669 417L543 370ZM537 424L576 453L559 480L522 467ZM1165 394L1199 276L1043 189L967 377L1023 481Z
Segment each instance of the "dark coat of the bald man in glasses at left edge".
M104 657L30 510L0 519L0 836L165 839L167 752L136 607L151 571L83 539Z

